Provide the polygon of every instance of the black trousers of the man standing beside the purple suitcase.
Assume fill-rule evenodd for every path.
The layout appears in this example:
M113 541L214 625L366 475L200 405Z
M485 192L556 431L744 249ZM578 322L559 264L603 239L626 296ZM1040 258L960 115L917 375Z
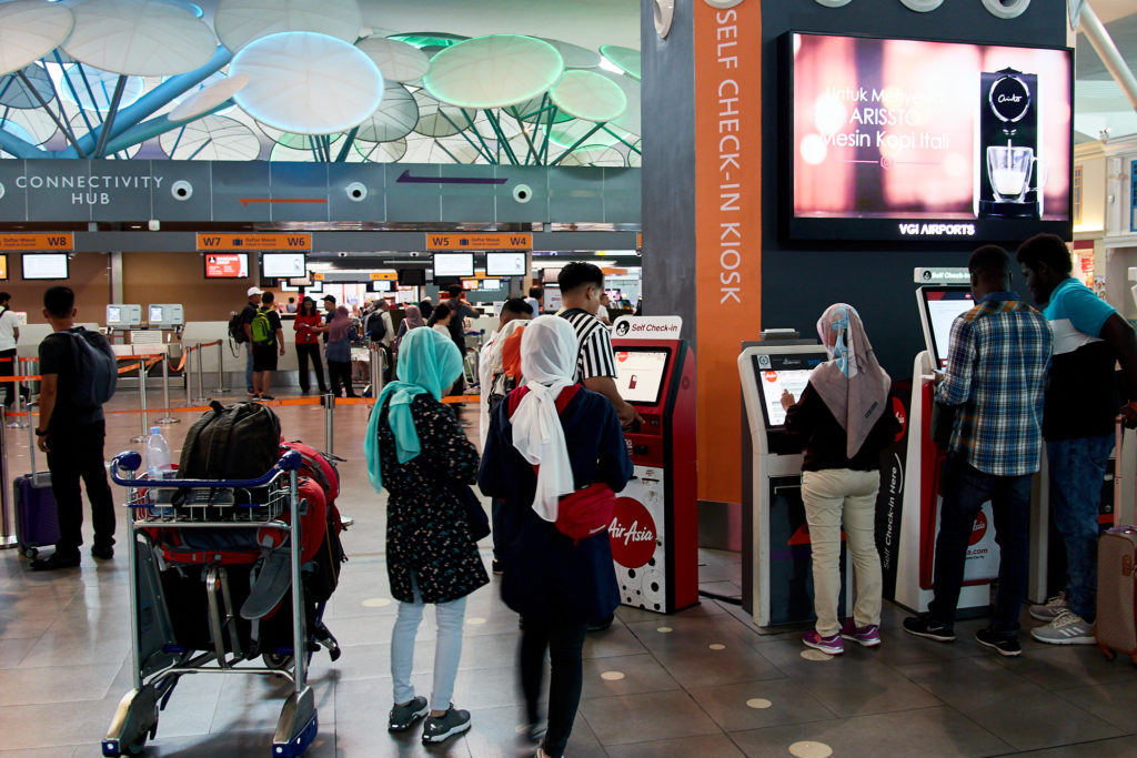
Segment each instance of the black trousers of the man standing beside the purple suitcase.
M115 543L115 503L107 483L102 445L107 436L106 422L52 427L48 433L48 470L51 472L51 494L59 513L59 543L56 552L77 556L83 544L83 495L80 478L86 485L94 525L94 545L109 548Z

